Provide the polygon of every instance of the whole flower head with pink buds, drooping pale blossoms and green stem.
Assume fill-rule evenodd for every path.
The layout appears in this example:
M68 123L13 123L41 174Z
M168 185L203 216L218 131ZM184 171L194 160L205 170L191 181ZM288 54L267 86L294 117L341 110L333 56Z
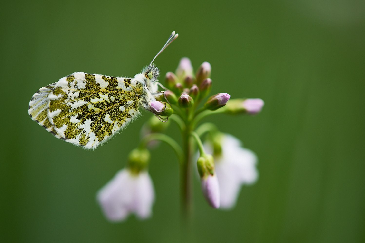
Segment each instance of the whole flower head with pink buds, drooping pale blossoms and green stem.
M155 195L147 172L150 160L148 149L155 147L158 144L156 141L169 144L178 157L183 210L186 214L191 212L193 163L196 163L199 172L203 195L213 208L232 208L241 186L257 180L255 154L243 148L234 136L219 132L214 124L199 122L206 116L218 113L254 115L261 111L264 101L232 100L228 93L217 93L207 98L212 85L210 76L210 63L202 63L194 73L187 57L180 60L175 73L166 73L166 90L157 101L149 103L149 110L154 115L142 127L138 148L130 152L126 168L117 172L97 194L97 200L109 220L124 220L130 213L141 219L151 215ZM181 131L182 147L163 133L170 120ZM201 138L206 138L204 144ZM199 156L193 160L196 149Z

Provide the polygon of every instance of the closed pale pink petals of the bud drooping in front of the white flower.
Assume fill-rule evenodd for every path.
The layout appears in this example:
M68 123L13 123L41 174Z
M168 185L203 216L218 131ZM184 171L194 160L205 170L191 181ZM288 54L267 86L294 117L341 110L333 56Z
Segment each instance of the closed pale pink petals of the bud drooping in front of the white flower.
M201 178L201 191L210 206L219 208L219 184L216 174Z

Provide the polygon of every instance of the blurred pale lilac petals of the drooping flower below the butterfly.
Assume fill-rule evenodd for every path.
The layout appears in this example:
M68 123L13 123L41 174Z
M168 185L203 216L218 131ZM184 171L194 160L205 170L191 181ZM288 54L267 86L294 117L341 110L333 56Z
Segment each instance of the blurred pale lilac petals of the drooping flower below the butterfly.
M130 213L135 213L140 219L149 218L154 197L148 172L134 173L128 168L118 171L97 193L105 217L113 222L126 219Z

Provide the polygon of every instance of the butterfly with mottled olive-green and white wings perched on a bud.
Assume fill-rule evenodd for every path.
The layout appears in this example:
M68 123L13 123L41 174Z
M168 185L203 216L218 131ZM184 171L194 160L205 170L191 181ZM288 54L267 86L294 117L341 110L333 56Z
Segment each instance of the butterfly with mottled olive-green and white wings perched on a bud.
M176 38L173 31L160 52L133 78L75 72L37 91L28 114L56 138L95 149L140 114L158 92L160 69L153 61ZM153 111L151 111L153 112ZM156 115L156 114L155 114Z

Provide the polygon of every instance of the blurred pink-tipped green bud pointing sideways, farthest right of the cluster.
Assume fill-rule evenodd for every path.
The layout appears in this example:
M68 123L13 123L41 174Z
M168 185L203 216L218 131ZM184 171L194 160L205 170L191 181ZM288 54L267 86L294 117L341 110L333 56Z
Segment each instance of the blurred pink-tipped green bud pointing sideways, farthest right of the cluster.
M240 113L257 114L264 106L262 99L234 99L227 102L225 112L230 115Z

